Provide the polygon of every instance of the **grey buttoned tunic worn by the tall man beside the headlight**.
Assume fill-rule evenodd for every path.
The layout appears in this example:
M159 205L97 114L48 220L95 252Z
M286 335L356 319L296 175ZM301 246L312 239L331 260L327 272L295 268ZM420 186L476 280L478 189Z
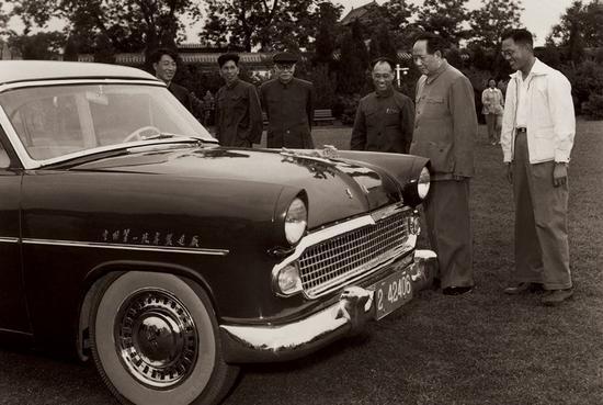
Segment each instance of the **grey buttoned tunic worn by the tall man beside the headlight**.
M410 154L428 157L432 180L474 176L477 115L474 88L444 60L432 76L417 82L417 115Z

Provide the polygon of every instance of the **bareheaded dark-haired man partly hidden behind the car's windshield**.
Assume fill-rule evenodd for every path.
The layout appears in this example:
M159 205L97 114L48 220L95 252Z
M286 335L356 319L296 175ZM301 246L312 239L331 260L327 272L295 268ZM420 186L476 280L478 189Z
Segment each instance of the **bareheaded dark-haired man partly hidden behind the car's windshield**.
M178 101L194 114L196 108L202 104L202 102L185 87L172 81L178 70L177 60L178 54L169 48L159 48L150 55L150 63L155 69L155 77L162 80Z

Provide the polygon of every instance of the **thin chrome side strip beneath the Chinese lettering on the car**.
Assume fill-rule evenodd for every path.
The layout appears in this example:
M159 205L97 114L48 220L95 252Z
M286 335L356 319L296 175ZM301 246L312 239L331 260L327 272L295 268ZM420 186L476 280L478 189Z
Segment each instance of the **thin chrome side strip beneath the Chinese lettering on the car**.
M209 256L227 256L230 252L230 250L228 249L186 248L186 247L177 247L177 246L174 247L140 246L140 245L128 245L128 244L105 244L105 243L99 243L99 241L52 240L52 239L32 239L32 238L24 238L23 244L102 248L102 249L116 249L116 250L140 250L140 251L156 251L156 252L163 252L163 254L170 252L170 254L209 255Z

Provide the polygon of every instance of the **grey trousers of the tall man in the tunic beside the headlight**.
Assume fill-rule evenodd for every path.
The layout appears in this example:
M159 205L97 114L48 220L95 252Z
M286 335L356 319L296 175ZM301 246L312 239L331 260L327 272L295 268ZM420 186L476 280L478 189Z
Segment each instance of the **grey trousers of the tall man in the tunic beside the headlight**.
M474 285L469 179L433 181L423 206L442 288Z

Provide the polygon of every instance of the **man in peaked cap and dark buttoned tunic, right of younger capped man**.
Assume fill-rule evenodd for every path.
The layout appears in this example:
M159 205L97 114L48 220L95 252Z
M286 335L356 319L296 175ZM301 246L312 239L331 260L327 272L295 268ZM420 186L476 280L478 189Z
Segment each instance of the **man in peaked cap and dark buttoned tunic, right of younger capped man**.
M288 52L274 55L276 79L260 87L260 99L266 112L268 147L312 149L314 86L295 78L297 56Z

